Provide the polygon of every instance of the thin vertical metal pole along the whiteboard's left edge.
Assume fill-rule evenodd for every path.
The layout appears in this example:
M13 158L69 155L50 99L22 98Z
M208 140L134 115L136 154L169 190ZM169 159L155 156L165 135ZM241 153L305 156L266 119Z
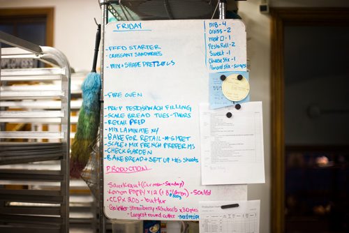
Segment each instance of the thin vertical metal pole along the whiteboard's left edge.
M104 98L103 98L103 83L104 83L104 40L105 40L105 25L107 24L107 3L108 0L100 0L102 18L101 18L101 115L99 126L99 230L105 233L105 216L104 216L104 167L103 167L103 111L104 111Z

